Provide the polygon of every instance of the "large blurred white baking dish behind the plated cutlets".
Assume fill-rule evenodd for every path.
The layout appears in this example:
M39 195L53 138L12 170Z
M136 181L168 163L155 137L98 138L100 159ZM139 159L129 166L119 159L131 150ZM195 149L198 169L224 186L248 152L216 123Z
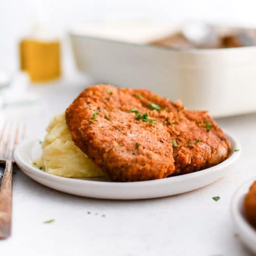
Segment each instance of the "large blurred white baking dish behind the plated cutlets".
M121 27L121 26L120 26ZM103 83L146 88L215 117L256 111L256 47L174 50L148 45L177 26L76 27L78 68Z

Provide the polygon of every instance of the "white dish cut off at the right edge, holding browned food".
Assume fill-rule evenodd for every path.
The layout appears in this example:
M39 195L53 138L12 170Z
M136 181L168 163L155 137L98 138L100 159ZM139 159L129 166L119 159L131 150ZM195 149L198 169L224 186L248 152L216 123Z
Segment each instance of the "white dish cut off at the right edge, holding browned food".
M256 176L245 182L238 188L231 201L231 214L234 224L236 225L241 241L247 245L254 253L256 253L256 230L248 223L244 216L243 203L245 194Z

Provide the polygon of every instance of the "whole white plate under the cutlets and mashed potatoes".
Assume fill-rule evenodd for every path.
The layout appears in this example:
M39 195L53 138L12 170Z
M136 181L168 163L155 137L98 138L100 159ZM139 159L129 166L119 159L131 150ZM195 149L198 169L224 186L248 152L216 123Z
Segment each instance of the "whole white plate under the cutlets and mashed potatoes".
M231 155L224 162L199 172L169 177L160 180L139 182L111 182L101 179L63 178L47 174L32 165L40 146L38 139L28 139L20 143L14 152L17 165L33 180L48 187L69 194L102 199L146 199L177 195L206 186L226 175L233 169L239 158L241 145L227 135L231 143ZM38 149L39 147L39 149ZM239 152L234 149L239 148Z

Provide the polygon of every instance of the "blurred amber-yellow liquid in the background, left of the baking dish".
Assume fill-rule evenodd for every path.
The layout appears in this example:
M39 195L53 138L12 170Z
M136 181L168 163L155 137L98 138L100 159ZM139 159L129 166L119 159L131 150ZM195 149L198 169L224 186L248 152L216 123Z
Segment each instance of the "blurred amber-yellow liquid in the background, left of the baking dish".
M24 39L19 44L20 69L32 82L47 82L60 76L60 42Z

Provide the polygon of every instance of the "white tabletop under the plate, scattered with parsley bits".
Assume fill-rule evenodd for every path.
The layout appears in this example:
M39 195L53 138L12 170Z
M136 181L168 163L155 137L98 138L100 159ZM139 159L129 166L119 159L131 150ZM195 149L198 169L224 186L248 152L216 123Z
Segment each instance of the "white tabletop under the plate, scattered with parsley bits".
M62 82L30 88L41 97L38 105L4 115L25 122L28 136L42 134L49 119L65 111L83 88ZM256 114L217 121L239 139L242 157L229 176L178 196L137 201L82 198L38 184L17 170L12 237L0 241L0 255L252 255L237 237L230 200L256 175ZM215 196L221 199L212 200ZM55 222L44 224L48 219Z

